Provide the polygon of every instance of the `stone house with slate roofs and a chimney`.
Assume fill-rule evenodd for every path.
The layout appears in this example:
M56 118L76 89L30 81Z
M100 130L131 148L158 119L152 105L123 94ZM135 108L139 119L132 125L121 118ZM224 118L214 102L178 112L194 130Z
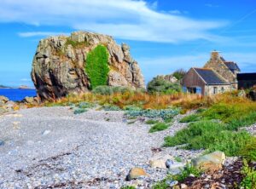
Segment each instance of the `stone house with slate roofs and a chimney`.
M192 67L183 77L183 91L202 95L224 93L237 89L236 75L239 67L233 61L226 61L217 51L202 68Z

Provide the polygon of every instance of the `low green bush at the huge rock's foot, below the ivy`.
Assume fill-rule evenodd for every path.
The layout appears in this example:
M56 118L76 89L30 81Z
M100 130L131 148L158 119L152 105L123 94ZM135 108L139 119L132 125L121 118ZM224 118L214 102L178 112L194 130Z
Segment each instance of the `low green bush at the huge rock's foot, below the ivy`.
M112 86L97 86L95 89L92 90L93 94L102 94L102 95L111 95L114 93L119 93L119 94L125 94L125 93L132 93L133 90L128 88L128 87L112 87Z

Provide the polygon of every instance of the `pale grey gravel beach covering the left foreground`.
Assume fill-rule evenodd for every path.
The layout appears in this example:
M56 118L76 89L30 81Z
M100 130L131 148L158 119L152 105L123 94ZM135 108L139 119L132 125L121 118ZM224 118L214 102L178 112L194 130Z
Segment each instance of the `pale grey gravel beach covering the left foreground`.
M0 117L0 188L148 188L166 176L149 158L170 154L183 159L201 152L162 148L164 137L187 126L178 123L149 134L138 119L127 124L124 112L93 111L74 115L69 107L24 109ZM125 181L140 167L148 177Z

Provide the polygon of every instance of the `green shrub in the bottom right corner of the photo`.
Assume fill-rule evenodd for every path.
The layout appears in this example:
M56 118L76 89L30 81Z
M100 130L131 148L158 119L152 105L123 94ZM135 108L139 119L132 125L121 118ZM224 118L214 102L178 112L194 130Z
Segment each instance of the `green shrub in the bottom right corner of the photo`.
M256 170L250 168L247 161L243 161L243 167L241 169L243 180L241 180L240 186L245 189L256 188Z

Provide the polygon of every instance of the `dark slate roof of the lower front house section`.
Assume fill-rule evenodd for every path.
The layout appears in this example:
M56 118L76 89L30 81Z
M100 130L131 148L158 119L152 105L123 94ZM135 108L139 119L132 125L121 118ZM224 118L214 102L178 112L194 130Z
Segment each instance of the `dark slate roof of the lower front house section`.
M194 68L195 72L198 73L202 77L202 79L207 84L230 84L224 80L224 78L220 77L218 73L214 72L212 69L205 68Z

